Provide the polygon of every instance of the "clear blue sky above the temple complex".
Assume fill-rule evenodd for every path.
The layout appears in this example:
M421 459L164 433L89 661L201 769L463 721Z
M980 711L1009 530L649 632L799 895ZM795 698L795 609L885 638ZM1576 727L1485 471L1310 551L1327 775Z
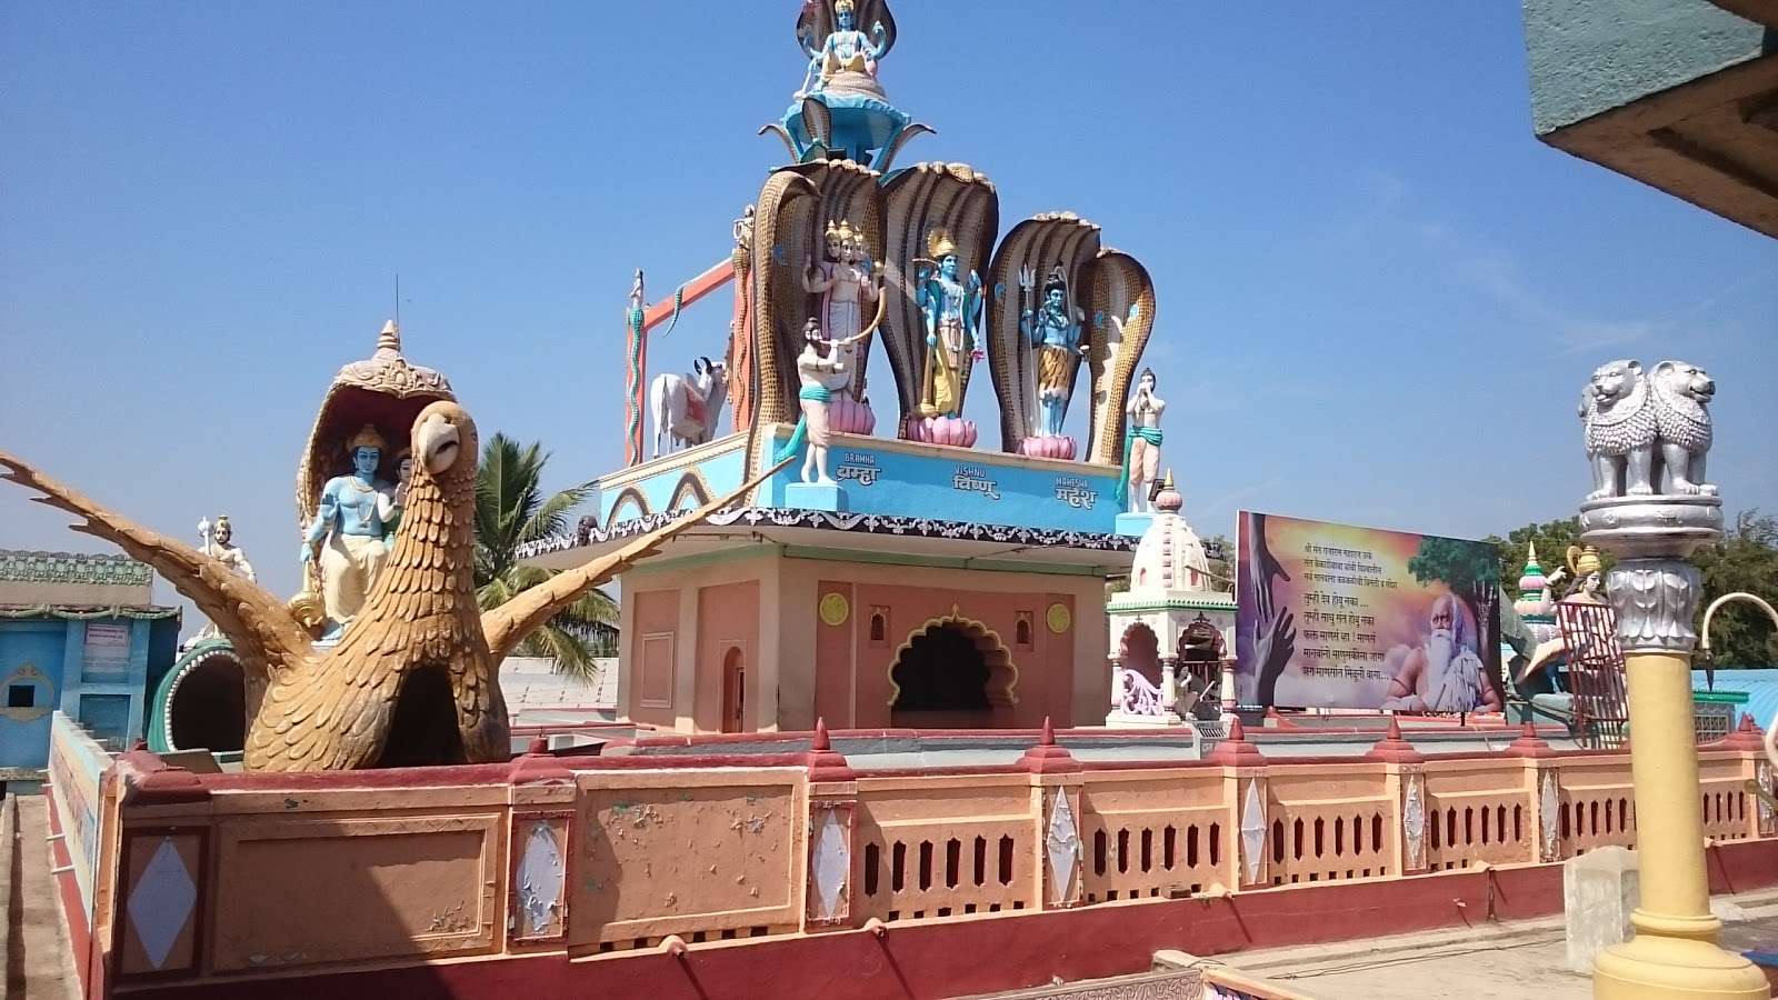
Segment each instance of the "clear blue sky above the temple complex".
M400 270L409 356L484 434L542 440L549 486L613 468L629 272L661 297L727 253L782 160L754 132L802 80L797 7L0 7L0 441L167 532L231 514L290 593L304 436ZM882 80L939 130L907 162L1154 272L1200 532L1566 516L1579 388L1616 356L1710 368L1710 472L1778 511L1778 242L1536 142L1517 4L894 9ZM690 313L654 370L725 320ZM985 379L971 411L997 441ZM105 550L21 496L0 546Z

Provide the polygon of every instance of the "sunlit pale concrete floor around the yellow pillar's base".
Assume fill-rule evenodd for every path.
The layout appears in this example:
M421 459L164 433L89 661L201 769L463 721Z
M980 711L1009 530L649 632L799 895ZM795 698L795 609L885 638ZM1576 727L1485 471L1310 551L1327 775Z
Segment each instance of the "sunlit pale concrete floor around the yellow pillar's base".
M1778 947L1778 893L1762 890L1719 897L1712 909L1723 918L1723 947L1773 950ZM1335 1000L1590 1000L1593 980L1568 972L1563 918L1522 920L1472 929L1403 934L1369 941L1312 945L1218 956L1248 975L1287 989Z

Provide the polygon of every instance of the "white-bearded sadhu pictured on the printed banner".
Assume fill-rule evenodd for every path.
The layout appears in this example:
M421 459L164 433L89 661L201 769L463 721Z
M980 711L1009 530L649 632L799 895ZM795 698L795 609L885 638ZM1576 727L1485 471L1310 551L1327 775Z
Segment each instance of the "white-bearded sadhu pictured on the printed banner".
M1394 646L1383 655L1394 712L1499 712L1501 694L1488 683L1478 653L1478 628L1456 594L1433 598L1428 633L1419 646Z

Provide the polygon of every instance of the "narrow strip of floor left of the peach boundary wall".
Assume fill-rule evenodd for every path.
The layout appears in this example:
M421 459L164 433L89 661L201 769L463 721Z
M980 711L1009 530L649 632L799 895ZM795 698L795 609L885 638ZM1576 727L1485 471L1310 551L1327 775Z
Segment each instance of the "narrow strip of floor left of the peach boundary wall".
M0 879L9 891L5 934L5 991L16 1000L71 1000L78 979L69 964L68 929L50 875L48 799L14 795L18 833L5 843L11 872Z

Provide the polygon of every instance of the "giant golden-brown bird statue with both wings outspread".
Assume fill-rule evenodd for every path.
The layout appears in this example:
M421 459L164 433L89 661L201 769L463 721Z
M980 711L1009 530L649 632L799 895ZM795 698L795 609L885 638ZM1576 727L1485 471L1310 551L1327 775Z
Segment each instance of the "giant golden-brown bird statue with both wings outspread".
M281 600L196 548L121 518L0 452L5 479L148 562L235 644L247 681L249 770L485 763L510 756L500 662L528 632L637 559L740 500L772 472L629 544L519 593L475 601L475 422L455 402L420 411L395 550L363 612L315 648Z

